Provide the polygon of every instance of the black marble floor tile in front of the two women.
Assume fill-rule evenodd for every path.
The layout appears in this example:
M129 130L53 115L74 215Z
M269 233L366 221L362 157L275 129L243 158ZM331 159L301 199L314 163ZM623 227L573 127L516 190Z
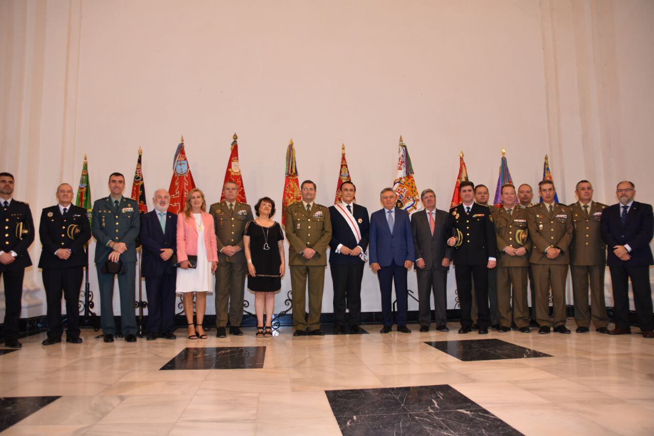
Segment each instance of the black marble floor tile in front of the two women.
M184 348L161 369L261 369L265 359L265 346Z

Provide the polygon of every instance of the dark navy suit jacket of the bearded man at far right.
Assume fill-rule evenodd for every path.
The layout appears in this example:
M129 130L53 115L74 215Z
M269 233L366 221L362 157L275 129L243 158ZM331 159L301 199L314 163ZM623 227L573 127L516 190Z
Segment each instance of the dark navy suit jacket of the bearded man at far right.
M608 245L608 266L648 266L654 264L649 242L654 235L654 215L651 204L633 202L622 225L622 204L613 204L602 211L602 239ZM629 245L631 259L621 261L613 254L615 245Z

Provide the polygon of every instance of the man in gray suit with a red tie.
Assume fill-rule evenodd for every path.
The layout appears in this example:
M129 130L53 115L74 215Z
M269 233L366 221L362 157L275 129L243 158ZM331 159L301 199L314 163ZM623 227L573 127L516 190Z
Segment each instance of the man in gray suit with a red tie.
M436 312L436 330L449 331L447 328L447 272L450 259L445 257L447 247L447 212L436 209L436 194L425 189L421 194L424 210L411 216L411 230L415 242L415 266L418 274L419 322L420 331L429 331L432 323L431 295L434 292L434 312Z

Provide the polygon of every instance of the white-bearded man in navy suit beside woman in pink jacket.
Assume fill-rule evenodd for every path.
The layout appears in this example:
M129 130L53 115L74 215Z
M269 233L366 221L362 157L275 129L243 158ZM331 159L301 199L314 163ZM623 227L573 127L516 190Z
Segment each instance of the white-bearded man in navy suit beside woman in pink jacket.
M175 280L177 270L173 268L172 257L177 247L177 215L168 211L170 194L165 189L154 192L154 210L141 215L141 245L143 264L141 273L145 277L145 291L148 295L147 340L158 335L175 339Z

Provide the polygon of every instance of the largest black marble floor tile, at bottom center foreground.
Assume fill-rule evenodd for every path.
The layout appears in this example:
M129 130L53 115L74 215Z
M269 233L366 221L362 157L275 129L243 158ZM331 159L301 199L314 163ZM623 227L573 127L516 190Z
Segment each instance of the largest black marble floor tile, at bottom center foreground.
M521 435L449 385L325 392L350 435Z

